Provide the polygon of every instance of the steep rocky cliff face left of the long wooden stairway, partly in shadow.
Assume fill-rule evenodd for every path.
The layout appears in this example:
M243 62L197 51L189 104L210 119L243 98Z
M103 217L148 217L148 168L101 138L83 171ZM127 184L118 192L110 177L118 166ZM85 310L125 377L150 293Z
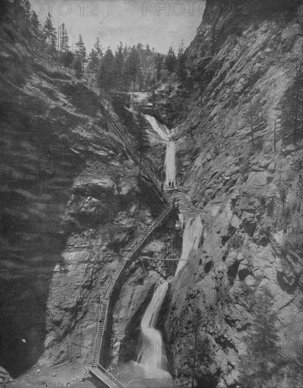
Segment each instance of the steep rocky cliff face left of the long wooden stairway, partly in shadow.
M17 376L90 361L102 287L161 203L107 119L136 150L132 115L1 28L1 365Z

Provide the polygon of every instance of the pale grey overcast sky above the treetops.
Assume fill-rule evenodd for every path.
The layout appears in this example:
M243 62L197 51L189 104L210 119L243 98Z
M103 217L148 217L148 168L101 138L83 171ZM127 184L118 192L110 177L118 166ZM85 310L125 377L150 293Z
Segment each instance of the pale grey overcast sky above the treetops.
M183 39L187 47L202 21L204 3L190 1L143 0L30 0L32 8L44 24L51 11L54 26L65 23L70 46L78 41L79 34L92 49L99 37L103 47L113 51L119 42L155 47L166 54L168 48L178 49Z

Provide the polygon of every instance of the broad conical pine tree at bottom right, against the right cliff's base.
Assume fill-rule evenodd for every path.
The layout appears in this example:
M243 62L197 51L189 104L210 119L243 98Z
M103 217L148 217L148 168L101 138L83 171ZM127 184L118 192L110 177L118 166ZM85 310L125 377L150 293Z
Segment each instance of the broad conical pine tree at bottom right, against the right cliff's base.
M276 328L278 315L273 310L273 296L267 288L259 294L254 313L252 337L239 368L240 384L245 388L267 387L266 384L271 384L285 365Z

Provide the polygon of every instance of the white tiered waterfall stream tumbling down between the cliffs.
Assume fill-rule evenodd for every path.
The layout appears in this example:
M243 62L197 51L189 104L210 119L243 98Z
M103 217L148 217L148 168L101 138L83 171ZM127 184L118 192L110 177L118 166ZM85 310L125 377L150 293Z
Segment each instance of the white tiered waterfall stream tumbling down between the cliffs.
M147 121L152 125L154 131L160 136L163 142L166 143L166 158L165 158L165 183L169 188L169 183L175 182L176 164L175 164L175 142L171 140L171 133L166 126L163 126L152 116L145 116ZM176 182L175 182L176 183ZM183 219L183 217L180 217ZM199 240L202 234L202 221L199 215L190 217L185 222L183 231L183 248L178 267L175 270L175 277L186 265L190 254L197 250ZM141 370L139 380L132 380L132 387L173 387L173 378L166 370L166 351L161 332L156 329L157 318L161 310L161 305L166 297L170 281L163 281L156 284L152 301L149 303L145 311L142 322L141 332L142 339L140 350L137 356L137 362L134 362L135 369ZM137 373L136 373L137 375ZM137 375L137 377L139 377ZM133 383L141 385L133 385Z

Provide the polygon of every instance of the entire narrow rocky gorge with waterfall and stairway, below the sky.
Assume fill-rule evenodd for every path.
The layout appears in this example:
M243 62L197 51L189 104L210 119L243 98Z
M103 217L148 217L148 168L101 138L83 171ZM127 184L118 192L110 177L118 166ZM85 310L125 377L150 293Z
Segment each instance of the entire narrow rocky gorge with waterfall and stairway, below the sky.
M302 1L206 0L130 90L4 3L0 386L302 387Z

